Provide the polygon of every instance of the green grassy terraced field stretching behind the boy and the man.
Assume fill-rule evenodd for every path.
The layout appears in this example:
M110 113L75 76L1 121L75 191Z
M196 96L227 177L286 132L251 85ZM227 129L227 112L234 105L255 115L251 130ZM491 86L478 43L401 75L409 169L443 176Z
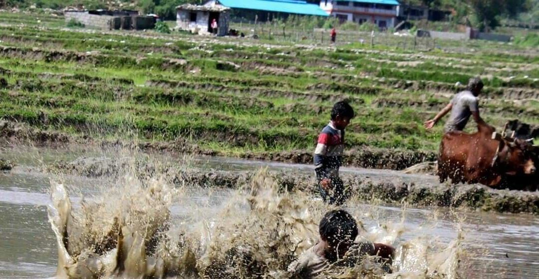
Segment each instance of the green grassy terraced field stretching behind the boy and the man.
M404 168L436 158L443 125L429 132L422 123L473 76L486 84L481 113L488 123L539 122L533 49L293 45L62 23L0 13L4 137L20 138L22 125L34 141L136 141L309 162L331 106L347 99L357 114L347 131L348 164ZM51 133L62 137L43 136Z

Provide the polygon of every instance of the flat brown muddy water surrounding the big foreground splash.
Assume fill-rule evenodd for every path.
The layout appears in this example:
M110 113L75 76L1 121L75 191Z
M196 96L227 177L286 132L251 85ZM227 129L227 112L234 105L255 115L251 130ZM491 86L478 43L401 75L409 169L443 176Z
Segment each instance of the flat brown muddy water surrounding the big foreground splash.
M30 164L30 163L29 163ZM196 159L204 168L243 170L267 165L264 162L226 158ZM271 168L290 172L310 172L308 166L269 164ZM379 179L432 180L429 176L402 175L398 172L344 169ZM64 178L71 200L98 192L97 179L77 176ZM49 177L18 168L0 173L0 278L51 277L57 268L56 239L47 221L46 205L50 203ZM171 219L186 226L200 219L211 219L225 203L234 198L231 190L188 190L171 206ZM458 273L464 278L539 278L539 217L533 215L464 213L448 210L371 206L350 202L347 208L363 222L367 233L377 234L379 224L403 221L395 246L412 239L450 243L462 228L464 256ZM218 221L218 220L217 220ZM418 242L414 242L418 243ZM426 242L425 242L426 243ZM432 249L435 249L432 247Z

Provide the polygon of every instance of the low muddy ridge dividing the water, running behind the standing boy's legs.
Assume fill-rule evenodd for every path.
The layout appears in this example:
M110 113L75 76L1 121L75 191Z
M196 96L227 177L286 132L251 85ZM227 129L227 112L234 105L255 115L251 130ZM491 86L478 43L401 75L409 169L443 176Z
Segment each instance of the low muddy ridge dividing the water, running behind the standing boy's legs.
M149 161L133 162L130 157L120 159L78 158L60 161L42 169L48 173L84 175L92 177L116 176L127 168L137 169L141 176L164 174L177 184L196 187L240 188L249 185L254 171L216 171L196 168L178 168L172 164L154 164ZM317 196L312 175L279 171L270 172L282 190L301 190ZM379 200L388 203L402 202L412 206L459 207L473 210L508 213L539 214L539 192L491 189L482 185L450 186L434 182L396 182L396 179L343 173L345 185L363 201Z

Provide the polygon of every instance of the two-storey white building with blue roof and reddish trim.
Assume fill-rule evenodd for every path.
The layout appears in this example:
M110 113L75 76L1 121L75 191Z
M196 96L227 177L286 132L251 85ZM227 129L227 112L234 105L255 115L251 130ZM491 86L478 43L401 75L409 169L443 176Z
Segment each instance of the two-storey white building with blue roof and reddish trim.
M381 29L395 27L398 6L396 0L320 1L320 8L341 22L370 22Z

